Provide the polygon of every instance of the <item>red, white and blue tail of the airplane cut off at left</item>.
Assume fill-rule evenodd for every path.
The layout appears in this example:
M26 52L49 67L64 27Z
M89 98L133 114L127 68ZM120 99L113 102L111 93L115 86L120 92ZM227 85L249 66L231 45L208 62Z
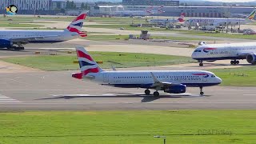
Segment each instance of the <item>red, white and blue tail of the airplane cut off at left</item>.
M81 37L86 37L87 34L85 32L82 32L82 25L86 18L87 12L88 11L83 11L81 14L79 14L78 17L75 18L69 26L67 26L66 30L70 31L71 33L77 33Z

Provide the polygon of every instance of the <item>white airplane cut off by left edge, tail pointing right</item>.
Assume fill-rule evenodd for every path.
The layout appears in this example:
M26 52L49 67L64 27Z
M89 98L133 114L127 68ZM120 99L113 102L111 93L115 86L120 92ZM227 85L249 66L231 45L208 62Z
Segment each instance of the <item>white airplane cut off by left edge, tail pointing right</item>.
M86 11L79 14L65 30L0 30L0 49L24 50L22 45L26 43L55 43L86 37L82 32L86 14Z

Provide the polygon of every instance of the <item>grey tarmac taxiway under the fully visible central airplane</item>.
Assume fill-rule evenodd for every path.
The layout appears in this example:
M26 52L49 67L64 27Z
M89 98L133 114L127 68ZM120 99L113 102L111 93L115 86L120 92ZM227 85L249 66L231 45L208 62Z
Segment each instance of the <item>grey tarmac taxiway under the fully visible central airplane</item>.
M0 110L173 110L256 109L255 87L188 88L186 94L146 96L71 78L74 71L2 73ZM151 90L153 93L153 90Z

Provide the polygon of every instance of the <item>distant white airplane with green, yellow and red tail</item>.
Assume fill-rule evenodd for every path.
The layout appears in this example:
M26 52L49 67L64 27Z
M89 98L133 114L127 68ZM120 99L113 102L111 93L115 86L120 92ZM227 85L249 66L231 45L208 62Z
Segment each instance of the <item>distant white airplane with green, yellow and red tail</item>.
M186 26L238 26L253 22L256 10L253 10L246 18L190 18L186 20Z

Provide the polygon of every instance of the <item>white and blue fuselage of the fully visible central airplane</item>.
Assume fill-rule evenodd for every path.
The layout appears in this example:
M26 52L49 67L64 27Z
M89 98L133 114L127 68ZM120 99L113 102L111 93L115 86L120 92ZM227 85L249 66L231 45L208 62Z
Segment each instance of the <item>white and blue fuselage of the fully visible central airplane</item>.
M95 82L102 85L150 89L154 84L151 72L161 82L178 83L191 87L215 86L221 83L220 78L203 70L102 71L99 74L89 74L89 77L93 77Z

